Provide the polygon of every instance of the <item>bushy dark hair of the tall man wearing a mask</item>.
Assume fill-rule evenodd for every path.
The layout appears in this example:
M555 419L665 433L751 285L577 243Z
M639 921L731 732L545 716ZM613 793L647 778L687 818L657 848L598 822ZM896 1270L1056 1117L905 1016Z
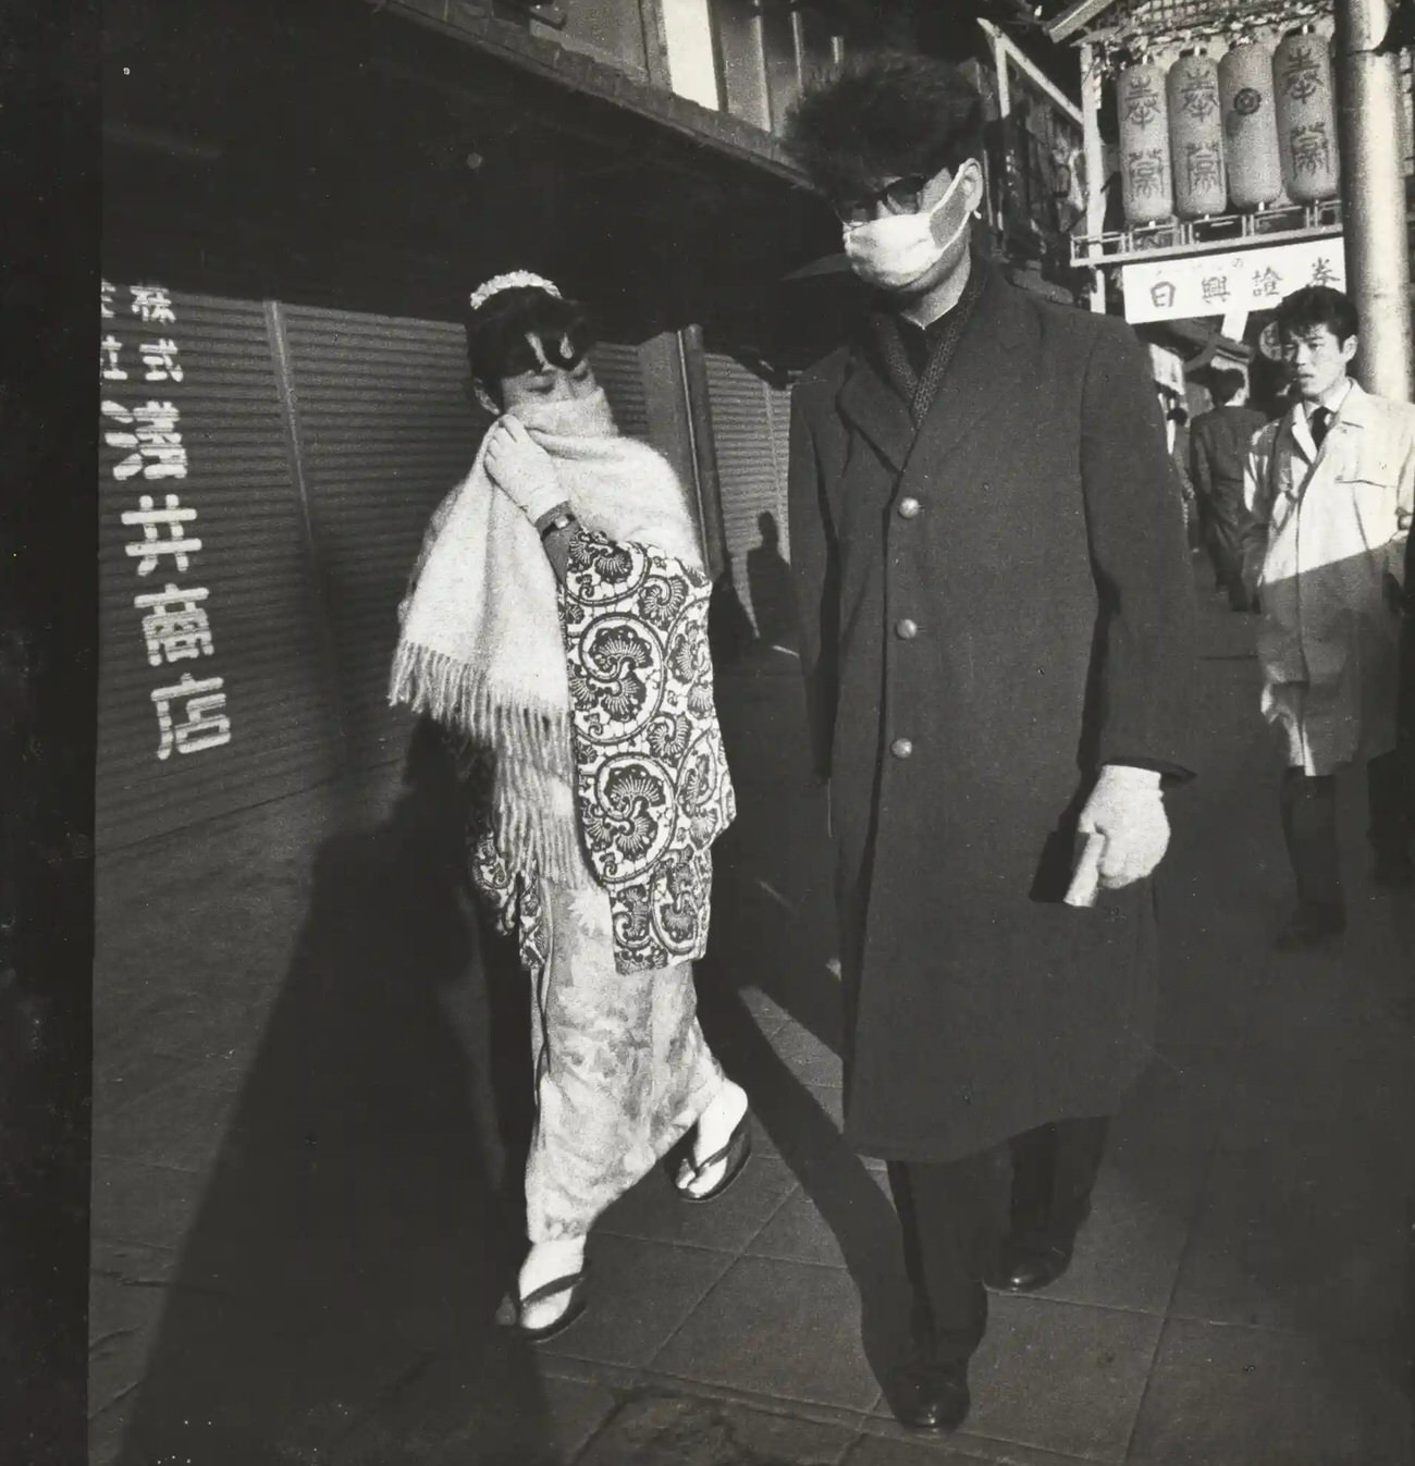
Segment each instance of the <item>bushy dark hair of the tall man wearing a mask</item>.
M786 147L830 199L870 183L958 169L982 154L982 98L946 62L872 51L812 86L786 122Z

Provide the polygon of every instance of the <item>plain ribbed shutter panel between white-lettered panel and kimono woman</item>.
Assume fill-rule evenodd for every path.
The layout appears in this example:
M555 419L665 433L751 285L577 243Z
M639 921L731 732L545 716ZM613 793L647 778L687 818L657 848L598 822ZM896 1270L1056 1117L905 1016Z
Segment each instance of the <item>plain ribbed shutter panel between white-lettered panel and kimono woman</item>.
M412 729L387 705L397 603L428 516L477 450L465 342L443 321L283 317L349 761L372 768L402 758Z

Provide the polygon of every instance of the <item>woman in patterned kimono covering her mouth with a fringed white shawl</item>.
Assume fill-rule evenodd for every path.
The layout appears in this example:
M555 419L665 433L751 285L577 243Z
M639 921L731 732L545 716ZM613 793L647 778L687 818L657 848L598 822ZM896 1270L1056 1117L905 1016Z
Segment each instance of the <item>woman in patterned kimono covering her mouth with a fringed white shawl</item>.
M619 435L548 280L497 276L471 305L497 421L428 526L392 698L469 751L474 883L534 985L531 1246L499 1321L543 1340L584 1311L594 1220L683 1136L685 1201L746 1164L746 1095L692 978L735 806L682 484Z

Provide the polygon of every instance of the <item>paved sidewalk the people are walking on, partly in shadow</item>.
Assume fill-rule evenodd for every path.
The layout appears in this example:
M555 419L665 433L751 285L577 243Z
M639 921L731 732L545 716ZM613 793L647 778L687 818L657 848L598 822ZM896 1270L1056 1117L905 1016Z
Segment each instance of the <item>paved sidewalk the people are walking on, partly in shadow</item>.
M993 1300L972 1415L937 1441L881 1394L905 1286L883 1168L839 1138L789 658L723 677L742 815L699 972L754 1158L713 1207L661 1171L625 1196L587 1316L535 1352L488 1324L525 1050L446 874L455 830L416 814L447 790L321 790L107 862L92 1460L1403 1466L1415 902L1368 887L1352 784L1352 928L1271 951L1287 875L1249 645L1205 605L1154 1063L1070 1271Z

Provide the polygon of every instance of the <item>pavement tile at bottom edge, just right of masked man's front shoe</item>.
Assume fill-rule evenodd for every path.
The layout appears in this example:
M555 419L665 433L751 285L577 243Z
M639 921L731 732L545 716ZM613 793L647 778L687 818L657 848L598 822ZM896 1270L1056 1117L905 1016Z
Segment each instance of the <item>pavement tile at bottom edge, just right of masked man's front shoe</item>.
M993 1294L969 1368L972 1413L955 1437L1123 1462L1161 1319L1047 1297ZM889 1401L875 1406L889 1413Z

